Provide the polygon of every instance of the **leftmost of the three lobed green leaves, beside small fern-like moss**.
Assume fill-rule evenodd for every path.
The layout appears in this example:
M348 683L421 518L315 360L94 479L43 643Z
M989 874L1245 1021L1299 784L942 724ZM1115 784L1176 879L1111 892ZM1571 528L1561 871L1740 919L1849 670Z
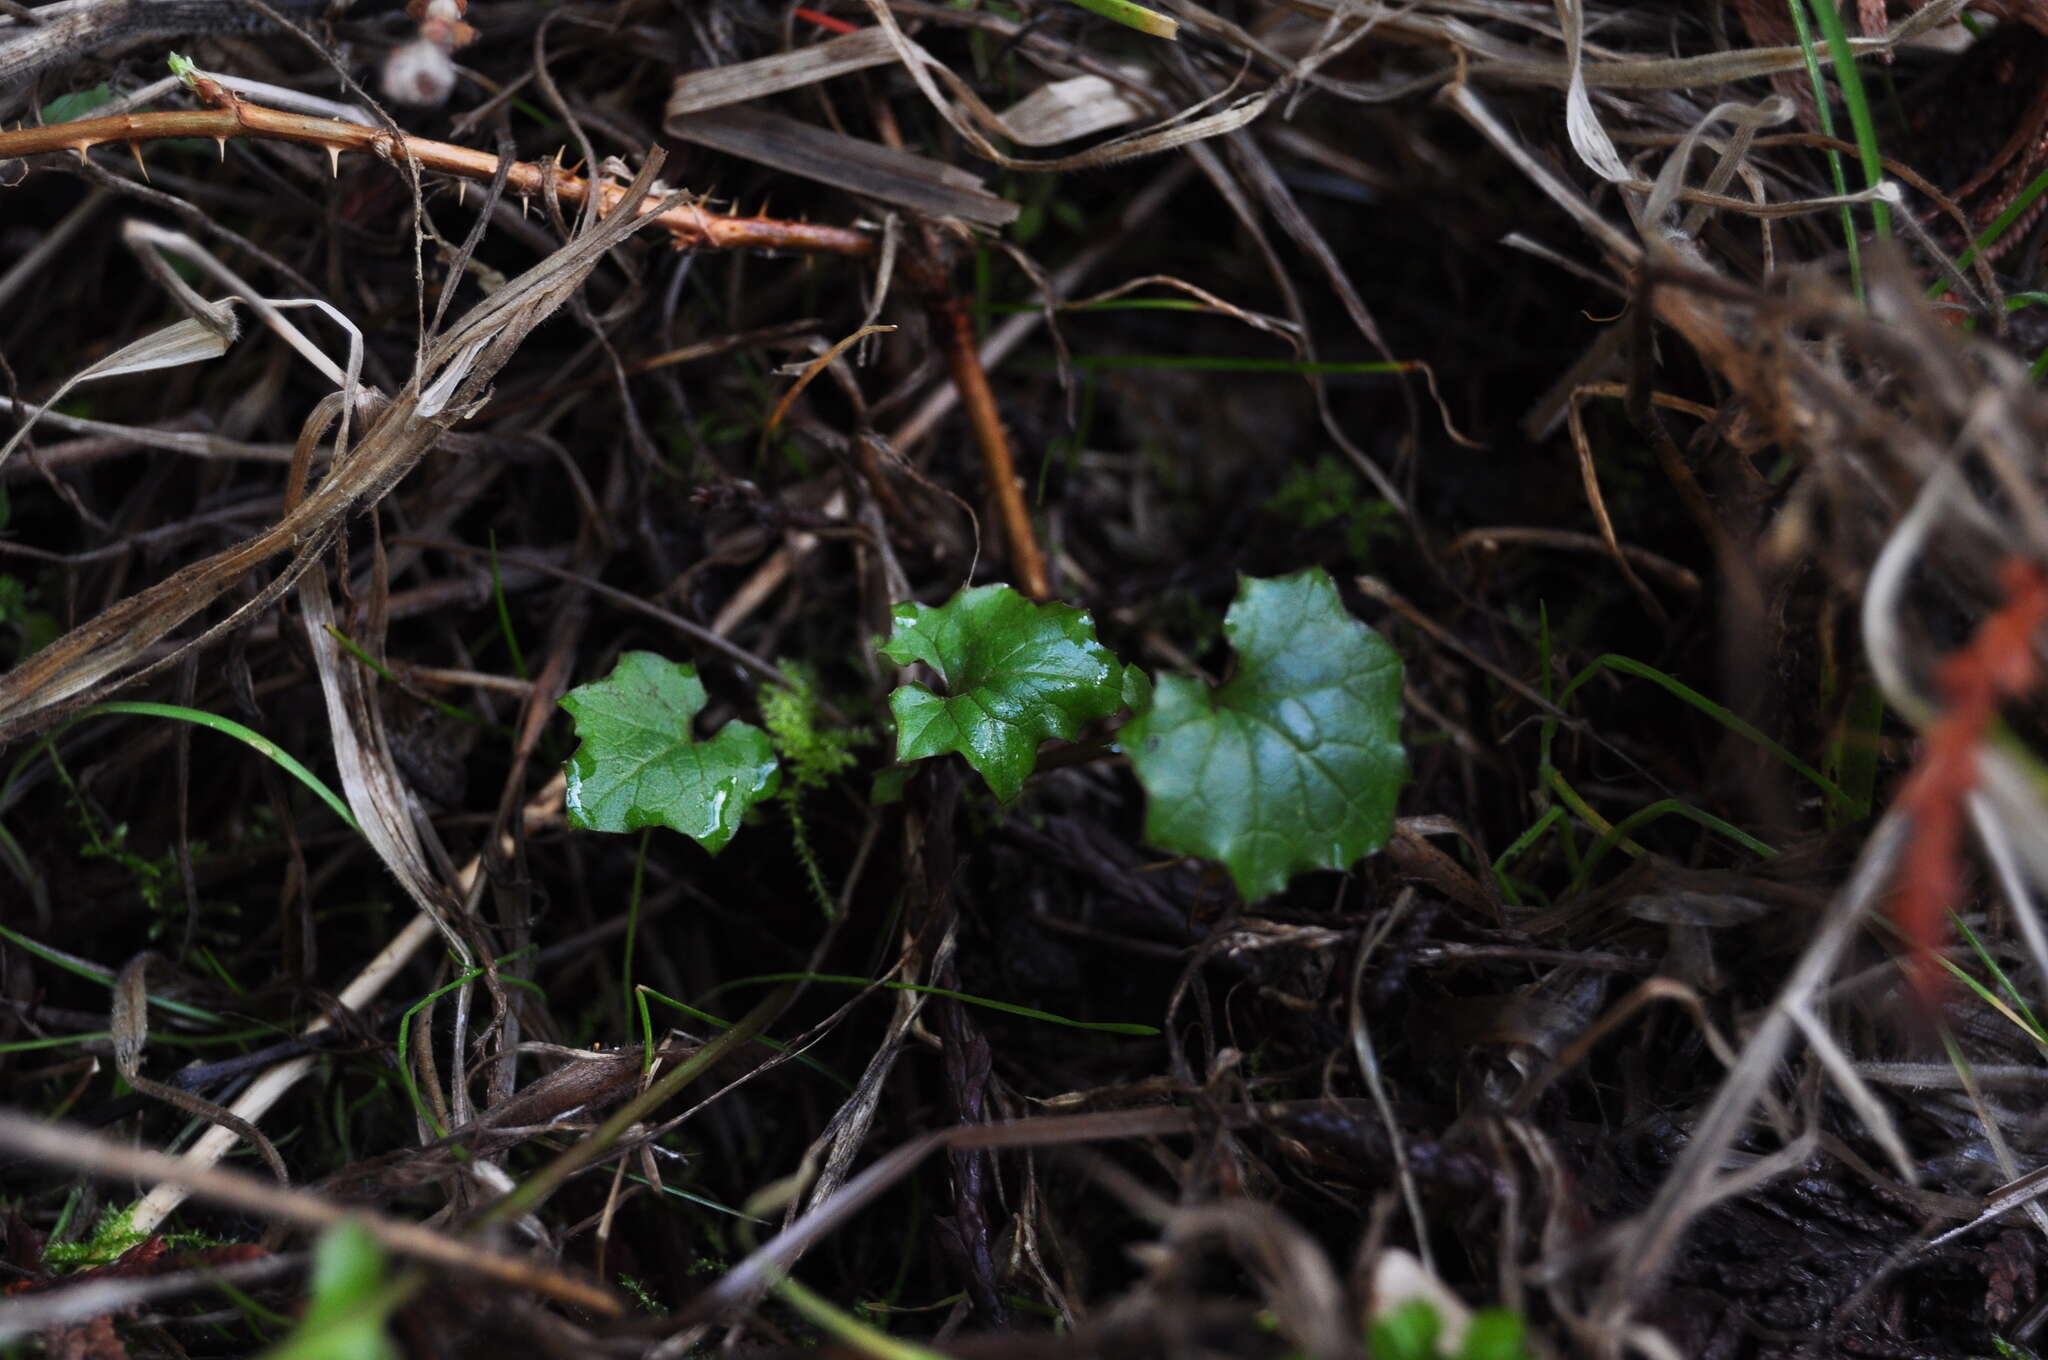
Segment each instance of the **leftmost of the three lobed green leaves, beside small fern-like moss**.
M563 774L569 825L586 832L666 825L717 854L780 782L760 727L735 719L711 741L692 735L690 719L705 707L694 666L629 651L604 680L563 694L561 707L584 739Z

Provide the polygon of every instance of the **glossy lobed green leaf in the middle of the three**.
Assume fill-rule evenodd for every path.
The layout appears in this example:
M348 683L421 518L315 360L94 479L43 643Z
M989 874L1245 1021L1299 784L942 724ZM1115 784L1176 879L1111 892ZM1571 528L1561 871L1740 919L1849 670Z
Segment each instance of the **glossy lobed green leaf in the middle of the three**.
M950 694L905 684L889 696L897 760L961 752L1004 803L1024 789L1040 741L1122 707L1124 668L1096 641L1094 619L1010 586L975 586L938 608L897 604L881 651L928 664Z

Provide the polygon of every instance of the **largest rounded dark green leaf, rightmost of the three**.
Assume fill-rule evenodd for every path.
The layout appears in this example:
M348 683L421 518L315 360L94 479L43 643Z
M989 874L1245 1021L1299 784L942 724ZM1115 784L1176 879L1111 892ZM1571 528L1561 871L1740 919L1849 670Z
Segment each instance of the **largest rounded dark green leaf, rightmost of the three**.
M1386 844L1407 778L1401 657L1319 567L1245 578L1223 633L1237 674L1217 690L1159 676L1122 746L1151 795L1145 840L1223 860L1257 901Z

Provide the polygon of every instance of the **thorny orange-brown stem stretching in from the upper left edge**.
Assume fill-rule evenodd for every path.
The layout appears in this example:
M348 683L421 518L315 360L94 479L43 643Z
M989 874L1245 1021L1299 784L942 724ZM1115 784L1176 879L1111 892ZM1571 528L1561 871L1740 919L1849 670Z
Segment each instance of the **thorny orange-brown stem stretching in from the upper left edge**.
M127 113L106 119L78 119L76 123L51 123L47 127L20 127L0 131L0 160L18 156L41 156L47 152L76 152L84 160L96 145L125 141L137 147L143 141L164 137L213 137L227 152L229 137L264 137L270 141L297 141L317 145L338 166L342 152L360 152L381 160L412 158L422 170L453 174L465 180L489 182L498 174L498 158L449 141L428 141L424 137L393 135L379 127L342 123L338 119L315 119L283 109L264 109L236 98L225 86L207 76L188 76L193 92L209 104L207 109L170 113ZM563 203L582 203L592 193L598 195L598 209L608 213L623 197L625 188L608 180L598 180L596 188L586 178L567 174L559 164L514 162L506 174L506 190L532 197L547 188ZM700 250L791 250L799 254L866 256L874 242L860 231L846 227L825 227L809 221L780 221L774 217L727 217L709 213L696 205L672 207L655 213L655 225L664 227L678 248Z

